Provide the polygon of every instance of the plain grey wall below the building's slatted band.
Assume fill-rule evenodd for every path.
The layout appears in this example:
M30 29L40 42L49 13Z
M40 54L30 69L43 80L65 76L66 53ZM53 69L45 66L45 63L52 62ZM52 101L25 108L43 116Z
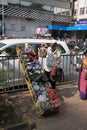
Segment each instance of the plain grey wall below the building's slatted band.
M45 27L50 22L41 20L26 20L25 18L8 17L5 18L6 36L14 37L34 37L37 27Z

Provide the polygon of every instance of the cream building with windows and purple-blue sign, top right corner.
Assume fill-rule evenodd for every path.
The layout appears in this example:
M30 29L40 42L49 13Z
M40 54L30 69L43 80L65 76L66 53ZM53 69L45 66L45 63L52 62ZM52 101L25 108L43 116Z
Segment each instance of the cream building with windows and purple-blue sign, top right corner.
M74 3L74 20L77 39L85 40L87 38L87 0L76 0Z

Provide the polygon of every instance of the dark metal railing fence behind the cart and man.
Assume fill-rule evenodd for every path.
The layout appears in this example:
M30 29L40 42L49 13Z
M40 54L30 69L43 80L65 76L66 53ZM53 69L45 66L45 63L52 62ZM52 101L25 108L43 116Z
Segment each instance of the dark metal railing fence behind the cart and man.
M61 56L58 84L76 82L77 56ZM19 60L14 56L0 56L0 93L27 90Z

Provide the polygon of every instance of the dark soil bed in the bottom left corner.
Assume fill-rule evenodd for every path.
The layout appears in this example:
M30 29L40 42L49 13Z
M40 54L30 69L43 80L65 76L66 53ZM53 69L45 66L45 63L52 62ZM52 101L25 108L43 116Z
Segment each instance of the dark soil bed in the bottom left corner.
M10 96L0 95L0 127L5 127L22 122L21 115L18 114L16 106Z

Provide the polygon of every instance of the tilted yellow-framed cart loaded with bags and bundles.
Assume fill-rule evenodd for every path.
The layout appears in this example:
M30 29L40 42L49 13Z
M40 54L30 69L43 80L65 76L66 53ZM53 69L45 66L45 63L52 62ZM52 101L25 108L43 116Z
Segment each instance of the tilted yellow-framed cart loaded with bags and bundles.
M48 82L34 49L32 53L17 47L16 52L29 93L36 108L36 114L40 117L57 112L61 101L56 91L51 89L51 84Z

